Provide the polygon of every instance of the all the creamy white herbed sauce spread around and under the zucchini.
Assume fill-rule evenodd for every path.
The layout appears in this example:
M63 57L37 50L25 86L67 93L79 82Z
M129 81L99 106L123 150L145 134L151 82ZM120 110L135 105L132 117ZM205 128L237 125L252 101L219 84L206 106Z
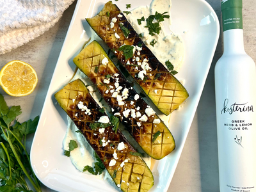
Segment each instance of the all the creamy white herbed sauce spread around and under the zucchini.
M175 67L174 70L178 71L184 60L184 45L182 42L182 38L173 33L171 33L170 35L166 35L163 24L161 26L162 30L160 34L151 36L148 34L147 28L144 28L146 22L142 21L141 26L139 26L137 22L137 19L140 19L143 16L145 17L145 19L147 19L155 12L170 13L171 5L171 0L153 0L150 6L141 6L135 8L131 11L131 14L126 15L126 17L129 22L131 22L133 28L136 30L137 33L143 33L143 42L145 42L149 49L155 54L157 59L163 64L165 63L165 61L170 60ZM168 19L168 22L169 24L171 24L171 19ZM149 44L149 42L151 42L153 39L157 40L157 43L154 45L154 47ZM99 40L99 36L97 36L95 33L92 33L92 38L90 42L92 42L93 40ZM88 42L88 44L90 44L90 42ZM74 76L72 81L77 78L83 79L87 82L86 84L92 84L91 81L80 70L77 70L76 76ZM92 86L91 95L100 105L100 107L102 107L102 104L99 102L100 95L99 93L95 92L95 86ZM102 100L102 103L104 103L104 100ZM111 109L106 106L108 106L108 104L106 104L105 102L104 107L106 108L106 111L111 111ZM169 117L170 116L161 116L161 119L166 125L168 125ZM120 129L122 130L123 134L125 134L126 138L131 138L131 135L127 134L127 131L124 131L124 127L120 126ZM76 166L77 170L83 172L84 166L94 166L95 159L93 157L93 148L89 145L88 141L85 140L84 136L80 132L76 132L77 130L78 129L76 125L74 125L74 122L72 122L72 120L68 117L68 127L65 138L63 139L63 147L64 150L68 150L68 143L70 142L70 140L75 140L77 142L78 147L70 152L70 159L74 166ZM138 143L136 142L131 144L136 148L139 147ZM151 157L143 157L143 159L150 168ZM90 174L88 172L84 173ZM104 170L102 175L94 175L93 177L96 177L98 179L106 179L111 185L115 186L113 180L111 179L110 175L106 170Z

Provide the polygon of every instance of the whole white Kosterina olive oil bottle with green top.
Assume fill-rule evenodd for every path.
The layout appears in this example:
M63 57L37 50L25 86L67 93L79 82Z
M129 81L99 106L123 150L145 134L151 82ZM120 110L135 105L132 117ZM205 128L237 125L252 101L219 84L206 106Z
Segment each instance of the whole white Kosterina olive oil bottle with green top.
M256 191L256 69L244 51L242 0L222 0L215 66L220 191Z

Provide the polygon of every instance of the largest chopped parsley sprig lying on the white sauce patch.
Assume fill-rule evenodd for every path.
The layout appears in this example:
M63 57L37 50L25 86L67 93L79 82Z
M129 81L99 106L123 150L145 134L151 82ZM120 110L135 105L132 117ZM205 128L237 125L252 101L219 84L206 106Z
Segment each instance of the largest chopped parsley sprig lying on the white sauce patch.
M148 28L149 35L154 36L155 34L159 34L161 31L160 22L164 21L164 18L169 18L170 15L165 15L167 12L161 13L155 13L155 15L150 15L148 19L146 19L147 26L145 28ZM153 22L154 21L154 22Z

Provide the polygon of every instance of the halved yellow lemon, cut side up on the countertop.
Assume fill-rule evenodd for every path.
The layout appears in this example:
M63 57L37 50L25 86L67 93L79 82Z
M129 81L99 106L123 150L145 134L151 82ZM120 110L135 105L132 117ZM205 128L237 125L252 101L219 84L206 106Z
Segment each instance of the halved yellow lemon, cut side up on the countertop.
M4 92L15 97L29 95L37 84L36 72L23 61L10 61L0 71L0 85Z

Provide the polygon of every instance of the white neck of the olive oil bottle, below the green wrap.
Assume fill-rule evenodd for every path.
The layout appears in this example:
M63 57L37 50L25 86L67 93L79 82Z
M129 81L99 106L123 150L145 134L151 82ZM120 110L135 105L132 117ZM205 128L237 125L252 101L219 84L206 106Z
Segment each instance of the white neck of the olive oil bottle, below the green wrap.
M223 54L245 54L243 29L229 29L223 32Z

